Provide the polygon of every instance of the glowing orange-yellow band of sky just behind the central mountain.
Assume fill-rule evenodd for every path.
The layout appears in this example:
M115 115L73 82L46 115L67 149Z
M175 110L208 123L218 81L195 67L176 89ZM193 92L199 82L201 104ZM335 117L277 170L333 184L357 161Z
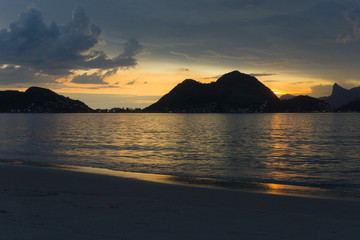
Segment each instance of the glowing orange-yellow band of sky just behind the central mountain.
M99 98L100 100L95 100L96 96L99 97L102 94L153 96L151 100L138 100L136 101L136 104L130 104L131 106L144 107L153 103L153 99L160 98L164 94L168 93L178 83L181 83L183 80L188 78L202 83L209 83L216 81L221 75L233 70L239 70L247 74L254 73L253 69L230 69L224 67L206 69L206 66L200 65L198 67L192 66L192 69L194 70L190 70L180 68L180 66L181 65L166 64L161 62L156 64L143 63L140 61L136 68L119 70L116 75L106 78L105 81L109 82L111 86L114 86L113 88L101 88L97 85L89 86L89 84L79 85L63 79L61 80L64 81L63 86L57 91L64 95L71 93L72 95L70 96L78 96L80 100L82 100L82 96L79 93L96 94L94 95L94 103L92 103L91 99L86 98L88 102L90 101L89 105L93 105L94 107L96 105L95 102L101 102L101 98ZM261 74L261 72L258 74ZM329 84L329 81L327 80L292 76L289 73L281 72L270 76L260 75L256 77L278 96L283 94L312 95L311 87L314 85L314 82L324 85ZM126 104L129 103L119 103L119 106L127 107ZM101 106L105 107L105 105Z

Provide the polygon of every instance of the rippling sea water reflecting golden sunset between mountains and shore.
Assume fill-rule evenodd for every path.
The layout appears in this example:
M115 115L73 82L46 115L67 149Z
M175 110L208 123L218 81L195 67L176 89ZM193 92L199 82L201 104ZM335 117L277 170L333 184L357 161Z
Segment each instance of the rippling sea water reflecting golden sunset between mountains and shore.
M0 126L3 160L360 198L360 114L0 114Z

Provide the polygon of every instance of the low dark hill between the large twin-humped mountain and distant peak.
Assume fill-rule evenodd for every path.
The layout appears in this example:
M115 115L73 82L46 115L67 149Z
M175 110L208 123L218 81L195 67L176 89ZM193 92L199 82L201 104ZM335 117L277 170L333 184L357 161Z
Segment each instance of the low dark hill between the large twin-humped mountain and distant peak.
M331 106L323 100L310 96L296 96L280 100L276 112L323 112L331 111Z

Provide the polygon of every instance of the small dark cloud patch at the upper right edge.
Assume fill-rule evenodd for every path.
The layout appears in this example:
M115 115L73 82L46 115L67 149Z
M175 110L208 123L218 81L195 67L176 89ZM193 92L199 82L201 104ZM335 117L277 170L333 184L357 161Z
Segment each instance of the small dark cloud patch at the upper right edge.
M347 44L360 39L360 8L349 10L345 14L346 19L352 24L352 33L338 36L338 43Z

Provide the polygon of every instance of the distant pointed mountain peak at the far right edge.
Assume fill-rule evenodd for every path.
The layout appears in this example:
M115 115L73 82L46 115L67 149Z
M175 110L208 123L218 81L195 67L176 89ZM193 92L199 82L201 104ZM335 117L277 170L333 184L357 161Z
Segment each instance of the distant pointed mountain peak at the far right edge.
M324 100L331 104L333 107L338 108L358 98L360 98L360 87L347 90L335 83L331 95L328 97L321 97L319 99Z

